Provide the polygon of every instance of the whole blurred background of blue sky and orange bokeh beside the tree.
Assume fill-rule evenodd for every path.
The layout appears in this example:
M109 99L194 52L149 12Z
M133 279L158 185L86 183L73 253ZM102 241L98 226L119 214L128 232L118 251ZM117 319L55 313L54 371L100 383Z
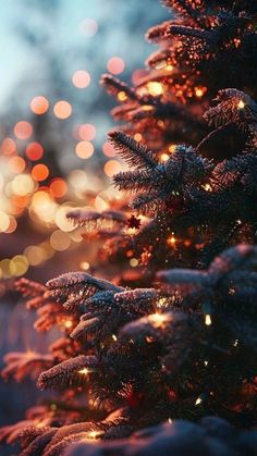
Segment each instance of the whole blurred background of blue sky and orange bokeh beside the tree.
M155 50L144 34L167 11L158 0L14 0L0 10L2 365L8 350L46 346L3 281L90 269L88 245L65 215L108 208L111 176L123 167L106 143L115 102L99 78L109 72L135 83ZM0 422L19 419L35 394L0 381Z

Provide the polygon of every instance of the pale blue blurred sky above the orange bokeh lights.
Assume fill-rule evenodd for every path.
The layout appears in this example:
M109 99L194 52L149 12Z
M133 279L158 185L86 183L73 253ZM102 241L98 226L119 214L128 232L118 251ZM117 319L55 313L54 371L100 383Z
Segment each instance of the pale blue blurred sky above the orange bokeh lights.
M69 126L94 124L100 147L113 125L109 111L114 101L99 86L108 60L120 57L125 69L118 76L130 81L155 50L146 42L145 32L167 16L158 0L2 0L0 120L7 125L4 132L21 119L29 120L30 100L44 95L51 110L59 99L72 104ZM95 34L88 32L88 20L89 25L90 21L97 24ZM83 90L72 84L77 70L90 74L90 85ZM60 127L65 137L63 156L66 167L73 167L79 163L71 153L71 128L65 132L64 125L68 122L59 122L54 128L58 133Z

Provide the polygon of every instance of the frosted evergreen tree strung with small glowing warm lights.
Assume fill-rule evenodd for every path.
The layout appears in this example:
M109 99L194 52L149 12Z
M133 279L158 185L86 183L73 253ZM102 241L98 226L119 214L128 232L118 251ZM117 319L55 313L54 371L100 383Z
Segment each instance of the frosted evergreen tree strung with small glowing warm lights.
M48 354L5 357L5 379L56 391L2 428L23 456L256 451L257 5L163 3L174 19L148 32L148 74L102 77L125 122L109 134L130 167L114 185L136 195L69 214L110 237L110 280L16 282L36 330L62 330Z

